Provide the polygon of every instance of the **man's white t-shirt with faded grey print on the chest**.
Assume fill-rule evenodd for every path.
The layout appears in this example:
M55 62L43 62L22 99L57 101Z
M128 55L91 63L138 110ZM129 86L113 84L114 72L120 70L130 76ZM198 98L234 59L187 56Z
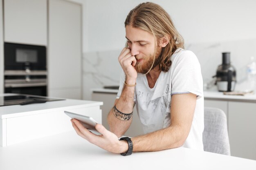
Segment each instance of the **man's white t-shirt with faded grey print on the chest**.
M134 100L144 133L170 126L172 95L193 93L197 95L195 113L183 147L203 150L204 94L200 64L192 51L184 49L177 49L171 61L171 68L168 72L160 73L153 88L149 88L146 75L138 73ZM117 99L121 95L124 81L123 72Z

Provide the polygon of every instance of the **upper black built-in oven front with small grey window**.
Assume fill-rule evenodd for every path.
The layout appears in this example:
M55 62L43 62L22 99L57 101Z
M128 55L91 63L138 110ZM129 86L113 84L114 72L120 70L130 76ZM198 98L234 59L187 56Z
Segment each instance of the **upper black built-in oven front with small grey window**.
M4 43L4 70L46 70L46 47Z

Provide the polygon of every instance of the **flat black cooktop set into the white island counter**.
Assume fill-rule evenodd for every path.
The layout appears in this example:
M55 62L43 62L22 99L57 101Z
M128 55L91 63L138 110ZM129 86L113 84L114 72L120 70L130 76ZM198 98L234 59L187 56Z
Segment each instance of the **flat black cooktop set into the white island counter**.
M65 99L55 99L55 98L47 98L43 96L33 96L33 95L8 95L0 97L0 106L10 106L10 105L27 105L27 104L35 104L35 103L45 103L52 102L58 100Z

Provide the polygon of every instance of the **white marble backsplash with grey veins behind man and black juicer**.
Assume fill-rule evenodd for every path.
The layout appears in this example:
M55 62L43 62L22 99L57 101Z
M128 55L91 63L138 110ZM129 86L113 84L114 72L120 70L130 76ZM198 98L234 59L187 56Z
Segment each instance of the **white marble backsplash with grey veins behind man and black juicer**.
M243 90L246 80L246 66L250 56L256 57L256 39L230 42L186 44L201 64L204 83L209 83L222 63L222 52L231 53L231 64L236 68L236 90ZM119 85L121 66L118 62L120 50L96 51L83 55L83 99L91 99L91 89Z

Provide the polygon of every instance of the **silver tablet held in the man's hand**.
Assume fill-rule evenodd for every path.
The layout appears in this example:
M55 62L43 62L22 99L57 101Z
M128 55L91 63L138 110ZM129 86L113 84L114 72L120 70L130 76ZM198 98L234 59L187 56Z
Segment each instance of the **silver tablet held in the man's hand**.
M92 117L88 117L88 116L84 116L84 115L79 115L76 113L72 113L72 112L68 112L68 111L64 111L64 113L66 115L68 115L70 118L72 119L77 119L81 122L81 124L87 128L88 130L90 130L91 132L93 132L96 135L101 135L100 132L98 132L95 129L95 126L98 124L97 121L95 121Z

